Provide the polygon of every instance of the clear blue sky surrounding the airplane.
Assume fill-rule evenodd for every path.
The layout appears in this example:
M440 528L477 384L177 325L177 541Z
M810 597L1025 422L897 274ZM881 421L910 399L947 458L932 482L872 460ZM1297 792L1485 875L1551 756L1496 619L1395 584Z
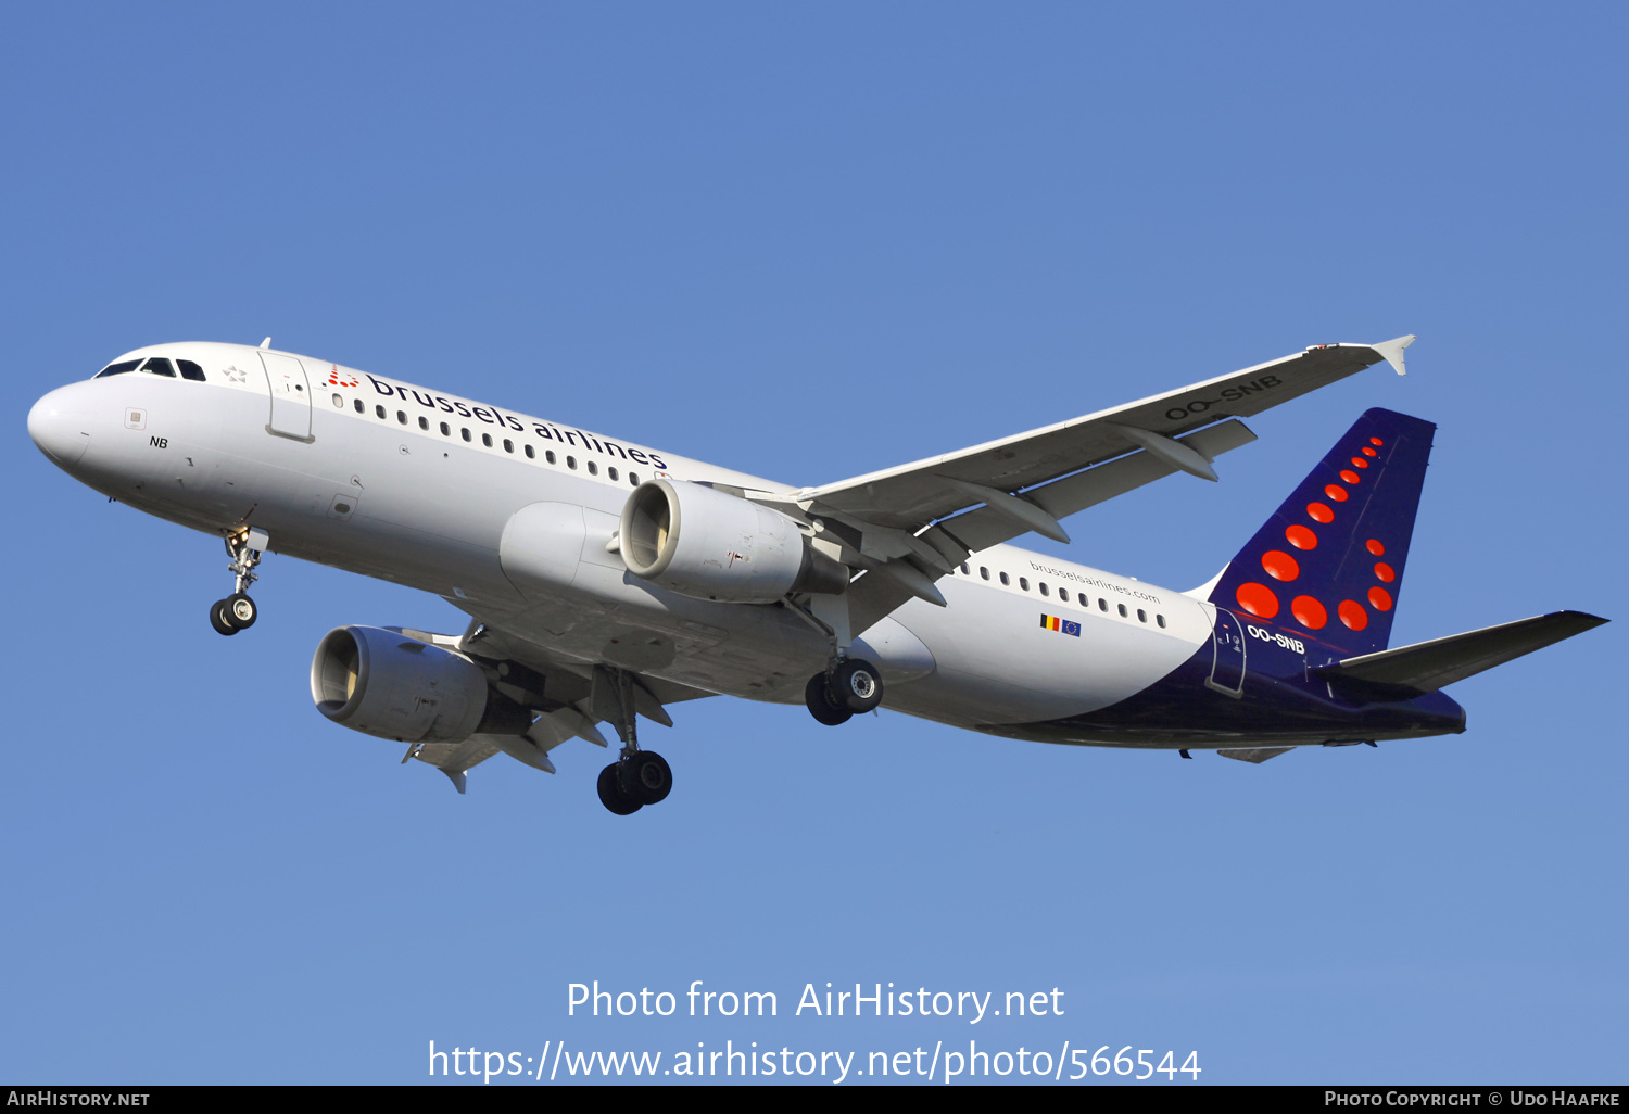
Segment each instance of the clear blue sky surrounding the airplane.
M1622 619L1609 5L10 5L0 1078L425 1077L428 1042L1197 1050L1214 1083L1621 1081L1614 622L1463 736L1261 767L725 699L627 821L582 743L456 796L310 705L440 599L109 505L29 404L161 340L349 363L814 484L1416 332L1046 552L1207 580L1370 406L1438 423L1394 643ZM567 985L780 1016L569 1018ZM790 1016L806 982L1065 1015ZM989 1044L986 1044L986 1041ZM1012 1077L1016 1080L1018 1077ZM1163 1083L1161 1083L1163 1085Z

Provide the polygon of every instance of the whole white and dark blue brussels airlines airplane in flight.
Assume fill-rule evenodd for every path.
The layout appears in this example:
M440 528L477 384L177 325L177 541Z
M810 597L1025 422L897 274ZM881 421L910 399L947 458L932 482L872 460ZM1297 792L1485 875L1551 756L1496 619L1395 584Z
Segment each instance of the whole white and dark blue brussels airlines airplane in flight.
M1435 425L1370 409L1209 583L1173 591L1010 546L1256 440L1241 419L1412 336L1319 344L1085 417L797 487L261 345L125 352L57 388L29 436L68 476L225 539L254 625L277 552L411 585L459 635L345 625L311 661L331 721L406 744L459 793L503 752L580 738L626 816L673 770L640 718L728 694L837 726L880 707L1041 743L1214 749L1464 731L1442 689L1596 627L1559 611L1388 648Z

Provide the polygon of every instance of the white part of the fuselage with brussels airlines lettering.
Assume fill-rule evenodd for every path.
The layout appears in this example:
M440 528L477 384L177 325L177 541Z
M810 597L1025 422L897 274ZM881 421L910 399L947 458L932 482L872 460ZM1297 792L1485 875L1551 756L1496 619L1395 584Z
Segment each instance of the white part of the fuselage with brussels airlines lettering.
M207 379L75 383L29 417L106 495L213 534L257 526L274 552L433 591L555 656L775 702L823 668L826 640L790 609L665 591L606 549L640 480L784 484L292 353L121 358L140 355ZM1013 546L964 568L938 581L948 606L912 599L858 640L886 707L1000 733L1124 700L1212 637L1209 603Z

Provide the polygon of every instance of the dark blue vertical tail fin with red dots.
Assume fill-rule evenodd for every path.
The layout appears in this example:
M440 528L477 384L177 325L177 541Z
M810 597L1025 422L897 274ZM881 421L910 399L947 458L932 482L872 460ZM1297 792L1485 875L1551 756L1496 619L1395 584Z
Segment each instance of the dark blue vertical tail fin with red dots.
M1210 601L1341 656L1385 650L1435 430L1363 414L1238 550Z

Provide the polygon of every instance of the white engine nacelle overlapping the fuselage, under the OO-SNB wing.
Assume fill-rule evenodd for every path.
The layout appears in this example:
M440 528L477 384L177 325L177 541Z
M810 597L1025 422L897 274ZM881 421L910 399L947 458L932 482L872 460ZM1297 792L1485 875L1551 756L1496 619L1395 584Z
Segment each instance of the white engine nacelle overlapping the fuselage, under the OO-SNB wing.
M774 603L788 591L839 593L849 570L780 511L702 484L645 480L622 507L627 570L702 599Z

